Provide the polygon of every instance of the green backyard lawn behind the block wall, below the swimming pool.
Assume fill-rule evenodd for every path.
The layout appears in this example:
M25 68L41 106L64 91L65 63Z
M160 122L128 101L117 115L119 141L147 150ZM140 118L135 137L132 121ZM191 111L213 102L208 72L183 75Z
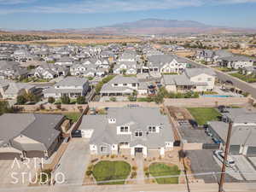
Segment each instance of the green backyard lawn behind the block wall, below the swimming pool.
M217 120L221 114L215 108L187 108L198 125L205 125L207 121Z

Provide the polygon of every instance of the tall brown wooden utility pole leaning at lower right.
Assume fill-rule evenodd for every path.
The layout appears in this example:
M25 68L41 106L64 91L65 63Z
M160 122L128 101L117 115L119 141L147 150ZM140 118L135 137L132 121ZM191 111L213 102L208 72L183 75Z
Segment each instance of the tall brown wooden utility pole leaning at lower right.
M225 146L224 161L223 161L223 164L222 164L222 170L221 170L221 177L220 177L218 192L223 192L224 191L223 190L223 184L224 184L224 178L225 178L225 172L226 172L225 162L227 162L228 154L229 154L229 151L230 151L230 136L231 136L232 126L233 126L233 122L230 121L229 131L228 131L228 136L227 136L227 141L226 141L226 146Z

